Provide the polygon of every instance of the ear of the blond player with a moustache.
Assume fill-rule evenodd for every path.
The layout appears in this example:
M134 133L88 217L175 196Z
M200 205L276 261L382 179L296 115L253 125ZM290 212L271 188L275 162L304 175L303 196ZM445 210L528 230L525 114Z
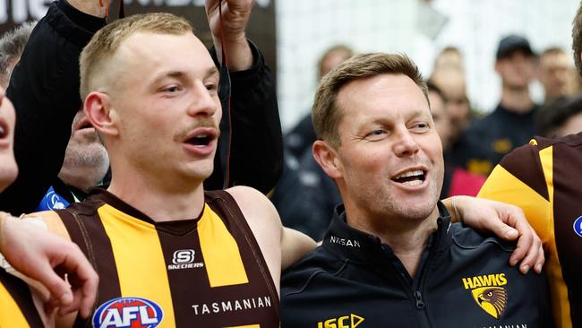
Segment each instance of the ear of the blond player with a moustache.
M116 111L111 107L111 99L103 92L91 92L83 106L91 125L101 135L118 135Z

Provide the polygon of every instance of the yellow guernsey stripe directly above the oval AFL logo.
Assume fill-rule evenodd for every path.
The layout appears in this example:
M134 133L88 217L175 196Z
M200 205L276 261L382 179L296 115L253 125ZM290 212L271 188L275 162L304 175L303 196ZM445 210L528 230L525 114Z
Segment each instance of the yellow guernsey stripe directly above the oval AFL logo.
M174 327L166 262L155 227L107 204L98 214L111 241L122 297L154 301L164 312L158 327Z

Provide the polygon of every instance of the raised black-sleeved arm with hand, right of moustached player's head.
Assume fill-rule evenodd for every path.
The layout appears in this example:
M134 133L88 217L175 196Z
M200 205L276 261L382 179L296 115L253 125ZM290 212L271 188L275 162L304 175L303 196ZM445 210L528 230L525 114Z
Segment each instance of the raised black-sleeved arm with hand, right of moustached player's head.
M246 39L244 29L252 10L252 0L225 0L222 3L222 24L219 23L218 0L207 0L206 11L214 41L211 51L221 63L222 45L230 71L232 106L228 186L252 186L267 194L275 186L283 170L283 138L278 117L274 77L261 52ZM220 26L224 29L221 33ZM223 101L223 120L228 101ZM224 125L221 123L221 128ZM225 184L228 133L222 131L212 176L206 189L221 189Z

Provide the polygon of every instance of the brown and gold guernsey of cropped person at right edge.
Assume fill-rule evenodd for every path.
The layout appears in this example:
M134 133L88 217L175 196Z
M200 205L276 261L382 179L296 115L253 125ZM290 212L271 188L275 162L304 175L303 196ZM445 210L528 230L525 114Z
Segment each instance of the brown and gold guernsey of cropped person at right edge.
M524 210L547 254L554 324L582 327L582 133L512 151L479 196Z

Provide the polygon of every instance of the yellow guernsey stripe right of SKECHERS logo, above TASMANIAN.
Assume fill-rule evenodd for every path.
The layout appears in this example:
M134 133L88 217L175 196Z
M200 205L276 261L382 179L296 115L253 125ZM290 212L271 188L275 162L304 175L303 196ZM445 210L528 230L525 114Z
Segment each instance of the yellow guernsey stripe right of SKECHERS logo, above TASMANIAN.
M235 238L218 215L207 204L204 206L198 222L198 237L210 287L248 283Z

